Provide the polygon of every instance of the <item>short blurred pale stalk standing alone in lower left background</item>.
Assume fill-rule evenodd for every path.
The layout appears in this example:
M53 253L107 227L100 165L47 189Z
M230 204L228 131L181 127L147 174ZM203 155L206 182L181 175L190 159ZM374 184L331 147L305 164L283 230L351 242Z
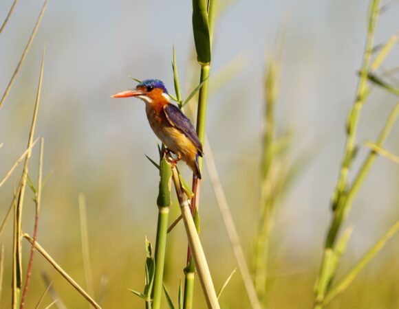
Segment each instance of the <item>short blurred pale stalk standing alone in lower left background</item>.
M82 240L82 255L84 265L83 268L85 270L87 293L89 293L89 295L91 295L95 299L96 295L94 294L93 272L91 271L89 254L89 233L87 231L86 198L85 195L82 193L78 195L78 204L80 214L80 238Z

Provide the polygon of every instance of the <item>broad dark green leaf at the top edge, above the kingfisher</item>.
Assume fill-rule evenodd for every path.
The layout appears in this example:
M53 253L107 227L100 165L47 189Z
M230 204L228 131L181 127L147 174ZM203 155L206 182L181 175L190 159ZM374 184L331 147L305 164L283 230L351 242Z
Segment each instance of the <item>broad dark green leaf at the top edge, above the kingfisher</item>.
M206 6L206 0L193 0L193 34L197 60L201 65L211 62L211 37Z

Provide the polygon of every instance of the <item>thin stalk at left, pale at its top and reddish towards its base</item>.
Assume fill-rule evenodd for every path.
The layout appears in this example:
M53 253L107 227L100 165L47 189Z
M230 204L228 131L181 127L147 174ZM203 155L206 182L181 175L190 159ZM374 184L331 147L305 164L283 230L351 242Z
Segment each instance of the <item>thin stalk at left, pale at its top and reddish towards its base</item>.
M39 210L40 210L40 205L41 205L42 179L43 179L43 137L41 138L41 141L40 141L39 175L38 175L38 179L37 179L37 190L36 190L36 194L34 197L35 215L34 215L34 229L33 229L33 244L30 249L28 270L26 271L25 286L23 287L23 293L22 293L22 297L21 297L21 306L19 306L20 309L23 309L23 307L25 306L25 297L26 297L26 293L28 293L30 276L32 275L34 244L36 243L37 229L38 229L38 225L39 225Z

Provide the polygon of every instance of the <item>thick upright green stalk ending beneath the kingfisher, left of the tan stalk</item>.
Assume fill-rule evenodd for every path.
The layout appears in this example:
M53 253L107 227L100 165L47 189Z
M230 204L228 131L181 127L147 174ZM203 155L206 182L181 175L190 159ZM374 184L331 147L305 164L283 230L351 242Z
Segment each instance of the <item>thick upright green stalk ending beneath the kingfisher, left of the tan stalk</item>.
M163 147L162 147L163 148ZM153 298L152 308L159 309L163 293L163 277L166 253L166 236L169 221L169 209L171 201L171 168L165 155L160 158L160 190L157 198L158 225L155 242L155 278L151 296Z

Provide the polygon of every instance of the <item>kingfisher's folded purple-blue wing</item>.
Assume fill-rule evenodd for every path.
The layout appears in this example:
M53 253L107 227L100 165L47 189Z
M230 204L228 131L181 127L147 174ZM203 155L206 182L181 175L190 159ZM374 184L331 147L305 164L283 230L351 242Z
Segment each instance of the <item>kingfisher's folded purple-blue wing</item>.
M195 132L195 128L193 124L191 124L190 119L180 111L180 109L173 104L164 105L164 112L166 115L166 119L168 119L169 123L180 130L190 141L197 147L199 155L202 157L204 152L202 152L202 144L200 139L198 139L197 132Z

